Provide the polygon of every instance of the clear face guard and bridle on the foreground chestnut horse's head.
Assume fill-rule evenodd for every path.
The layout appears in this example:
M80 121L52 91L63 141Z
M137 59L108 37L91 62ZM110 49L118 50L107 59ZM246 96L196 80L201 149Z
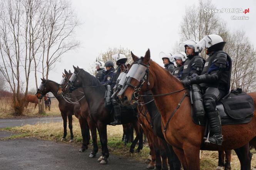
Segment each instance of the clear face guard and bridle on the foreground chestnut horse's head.
M123 88L118 93L118 96L121 96L124 93L124 91L127 89L127 87L131 86L135 90L133 97L137 100L139 98L138 92L141 91L141 87L143 86L144 82L148 78L148 75L149 75L149 65L142 63L142 60L138 60L137 62L135 62L130 68L129 72L127 73ZM132 85L131 84L132 78L135 78L139 82L139 85L137 86ZM150 85L148 79L147 79L147 85Z

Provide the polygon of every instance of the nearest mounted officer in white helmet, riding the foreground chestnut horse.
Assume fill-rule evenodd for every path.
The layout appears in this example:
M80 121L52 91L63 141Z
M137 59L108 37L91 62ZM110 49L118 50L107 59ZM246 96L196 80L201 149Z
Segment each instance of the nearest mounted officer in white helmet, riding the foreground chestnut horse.
M200 84L204 90L203 100L211 127L209 142L222 145L221 118L216 110L216 102L223 98L230 88L231 58L223 51L226 42L219 35L211 34L197 43L197 51L205 48L207 58L201 75L182 82L185 86L192 83ZM206 141L205 141L206 142Z

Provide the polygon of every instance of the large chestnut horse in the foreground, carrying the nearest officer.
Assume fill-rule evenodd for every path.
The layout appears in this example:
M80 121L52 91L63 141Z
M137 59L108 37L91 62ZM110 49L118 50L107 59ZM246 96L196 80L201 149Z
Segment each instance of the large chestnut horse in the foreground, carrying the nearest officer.
M131 75L129 85L127 84L123 89L119 98L123 104L129 105L132 97L137 98L139 90L141 92L152 90L153 95L173 92L169 95L154 96L154 100L161 114L164 137L174 147L174 152L181 160L185 170L200 170L200 149L234 149L240 160L241 169L250 169L249 142L251 141L252 145L256 146L256 109L254 117L249 123L223 125L224 141L222 146L202 145L204 127L196 125L192 121L191 103L181 81L153 62L150 59L149 50L145 57L138 58L132 53L132 58L138 64L135 67L138 66L137 73L140 71L142 74L141 80L131 78L134 76ZM256 93L248 94L253 98L256 107Z

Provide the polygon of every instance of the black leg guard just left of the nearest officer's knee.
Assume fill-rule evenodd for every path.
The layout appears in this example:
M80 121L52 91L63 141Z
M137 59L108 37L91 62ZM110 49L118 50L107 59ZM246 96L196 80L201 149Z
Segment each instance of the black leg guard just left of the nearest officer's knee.
M191 85L193 110L197 118L203 118L205 116L204 105L202 103L202 91L198 84Z

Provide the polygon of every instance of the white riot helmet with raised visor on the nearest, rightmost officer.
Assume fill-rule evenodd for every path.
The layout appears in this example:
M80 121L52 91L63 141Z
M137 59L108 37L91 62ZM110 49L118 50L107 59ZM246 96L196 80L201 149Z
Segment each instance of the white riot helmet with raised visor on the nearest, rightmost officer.
M225 44L226 42L219 35L206 35L196 44L196 51L200 52L203 48L207 48L208 52L223 50Z

